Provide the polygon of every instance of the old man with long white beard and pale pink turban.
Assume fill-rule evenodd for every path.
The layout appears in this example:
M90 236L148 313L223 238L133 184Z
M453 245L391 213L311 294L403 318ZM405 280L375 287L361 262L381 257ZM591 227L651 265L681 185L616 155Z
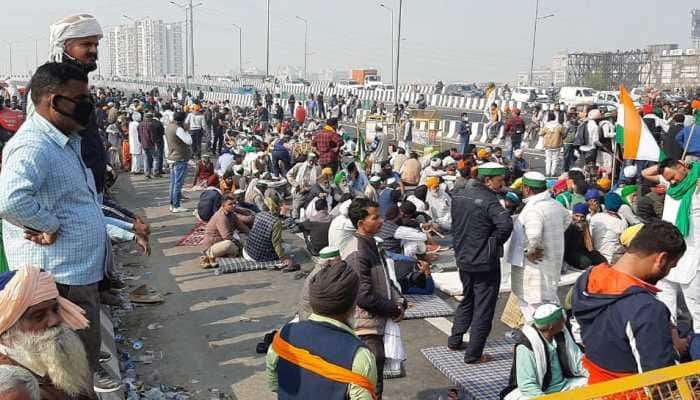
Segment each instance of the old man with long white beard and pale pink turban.
M0 310L0 365L31 372L41 399L94 397L85 348L74 332L88 320L59 296L50 273L27 266L0 275Z

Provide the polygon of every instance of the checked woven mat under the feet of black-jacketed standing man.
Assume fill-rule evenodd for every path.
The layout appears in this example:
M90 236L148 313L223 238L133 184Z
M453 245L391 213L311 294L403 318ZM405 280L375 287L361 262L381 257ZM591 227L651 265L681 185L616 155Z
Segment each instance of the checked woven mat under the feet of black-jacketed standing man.
M421 353L452 383L459 385L467 399L496 400L508 385L513 345L513 340L505 338L486 343L484 353L493 357L486 364L465 364L464 351L452 351L445 346L422 349Z

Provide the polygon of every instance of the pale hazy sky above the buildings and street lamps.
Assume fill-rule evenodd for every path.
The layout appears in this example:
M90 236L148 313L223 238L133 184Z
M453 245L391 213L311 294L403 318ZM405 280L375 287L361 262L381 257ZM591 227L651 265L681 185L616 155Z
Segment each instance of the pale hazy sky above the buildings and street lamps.
M183 0L184 1L184 0ZM265 68L265 0L201 0L195 8L197 73L238 68L238 33L244 28L243 63ZM384 0L398 18L399 0ZM167 0L2 1L0 38L14 41L14 71L46 59L48 26L60 17L92 13L105 31L128 22L122 17L184 19ZM197 1L195 1L197 3ZM271 0L270 70L303 65L304 25L309 20L310 70L379 68L390 73L389 12L375 0ZM529 66L535 0L404 0L402 80L512 80ZM697 0L540 0L535 64L548 64L560 50L641 48L651 43L689 47L690 9ZM106 41L102 46L106 64ZM0 72L8 72L7 44L0 40Z

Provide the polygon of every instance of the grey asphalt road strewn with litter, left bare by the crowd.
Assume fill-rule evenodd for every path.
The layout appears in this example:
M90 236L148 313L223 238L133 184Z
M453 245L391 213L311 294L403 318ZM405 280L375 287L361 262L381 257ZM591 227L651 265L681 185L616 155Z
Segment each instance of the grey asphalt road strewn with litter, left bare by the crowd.
M145 215L152 227L152 255L121 258L122 269L138 278L129 284L145 283L167 294L165 303L137 307L124 318L125 332L120 334L141 338L144 348L136 351L121 344L122 350L130 352L132 359L145 351L159 355L152 364L137 364L139 378L149 384L183 386L195 399L216 398L218 393L231 399L276 398L267 389L264 356L255 353L255 346L266 333L294 317L303 281L272 271L217 276L200 269L201 246L175 246L195 219L189 213L168 211L168 179L147 180L123 173L114 191L120 203ZM190 199L184 206L194 208L198 193L187 195ZM284 239L297 249L302 268L311 269L301 239L288 232ZM506 299L502 294L496 315ZM448 301L457 304L452 298ZM162 327L151 330L150 324ZM443 330L449 331L450 318L403 321L400 326L408 357L407 376L386 381L384 398L437 400L445 396L450 382L420 349L446 344ZM505 325L494 321L490 338L502 338L506 331Z

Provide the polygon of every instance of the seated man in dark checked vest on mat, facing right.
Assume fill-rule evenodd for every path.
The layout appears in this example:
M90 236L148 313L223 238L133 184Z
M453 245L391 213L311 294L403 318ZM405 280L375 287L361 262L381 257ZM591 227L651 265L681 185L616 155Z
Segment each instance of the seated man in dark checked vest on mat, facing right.
M285 264L283 272L298 271L299 266L294 265L285 251L285 246L282 245L281 207L286 208L287 205L280 206L276 196L265 198L265 208L255 216L255 222L248 234L243 256L251 261L281 260Z

